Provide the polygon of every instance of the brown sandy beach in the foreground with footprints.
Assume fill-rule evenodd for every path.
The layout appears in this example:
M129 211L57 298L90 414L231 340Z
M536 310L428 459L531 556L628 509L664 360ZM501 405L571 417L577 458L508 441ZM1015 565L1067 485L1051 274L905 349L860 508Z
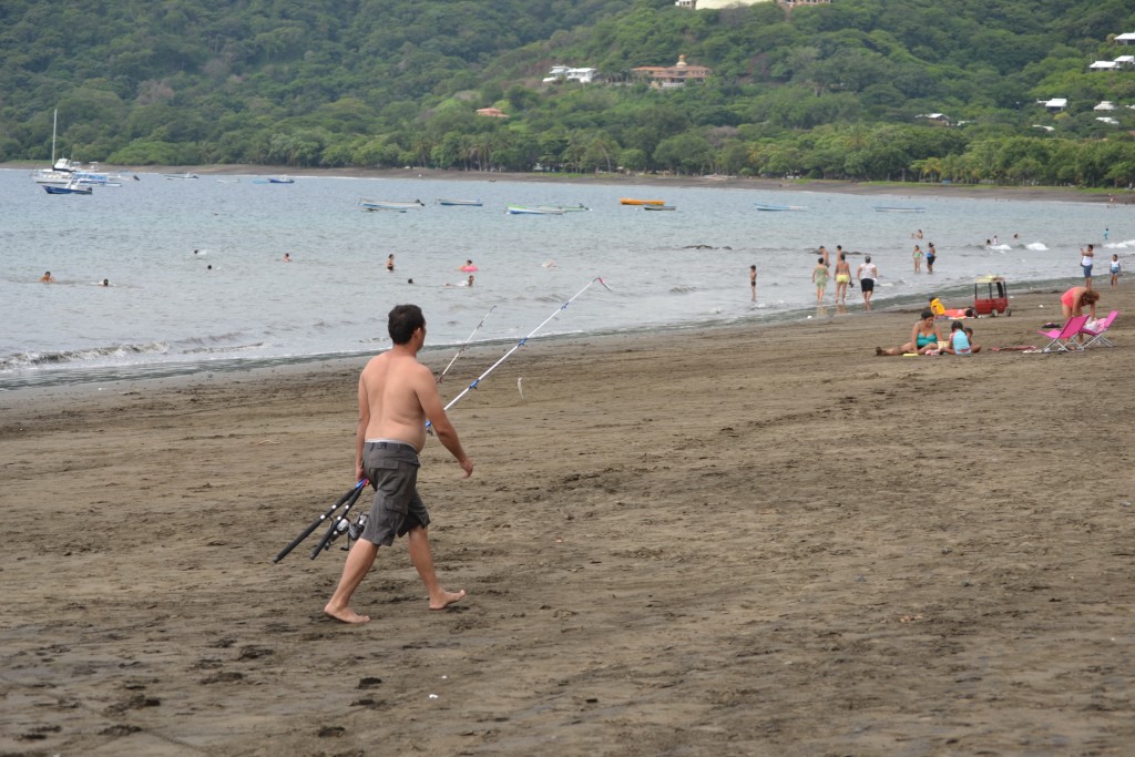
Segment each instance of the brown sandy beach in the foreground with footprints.
M353 482L362 361L2 394L0 754L1130 754L1132 293L1081 354L992 351L1048 292L968 359L876 358L910 310L536 340L451 413L473 477L422 454L469 596L400 540L363 626L342 542L271 562Z

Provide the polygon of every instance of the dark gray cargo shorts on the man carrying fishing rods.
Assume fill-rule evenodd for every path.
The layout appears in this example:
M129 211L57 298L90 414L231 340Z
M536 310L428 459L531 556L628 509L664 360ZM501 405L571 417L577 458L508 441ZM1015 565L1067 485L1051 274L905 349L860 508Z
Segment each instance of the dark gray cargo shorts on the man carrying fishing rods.
M389 547L394 537L429 525L429 513L418 496L418 452L404 441L367 441L362 469L375 487L375 502L362 531L371 544Z

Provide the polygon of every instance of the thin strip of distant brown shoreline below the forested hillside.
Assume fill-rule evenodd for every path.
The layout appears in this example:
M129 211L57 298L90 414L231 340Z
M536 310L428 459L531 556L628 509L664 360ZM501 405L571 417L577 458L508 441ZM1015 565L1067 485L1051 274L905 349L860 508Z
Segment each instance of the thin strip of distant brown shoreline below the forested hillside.
M35 161L0 163L0 169L35 170L43 166ZM1135 204L1130 190L1076 190L1071 187L1014 187L974 184L910 184L899 182L846 182L834 179L764 179L735 176L658 176L597 174L513 174L488 171L454 171L432 168L305 168L287 169L274 166L117 166L100 163L103 170L146 174L197 174L200 176L277 176L293 177L335 176L350 178L420 178L451 182L547 182L556 184L600 184L612 186L681 186L750 190L757 192L830 192L838 194L886 195L907 197L962 197L994 201L1090 202L1107 204L1111 197L1117 204Z

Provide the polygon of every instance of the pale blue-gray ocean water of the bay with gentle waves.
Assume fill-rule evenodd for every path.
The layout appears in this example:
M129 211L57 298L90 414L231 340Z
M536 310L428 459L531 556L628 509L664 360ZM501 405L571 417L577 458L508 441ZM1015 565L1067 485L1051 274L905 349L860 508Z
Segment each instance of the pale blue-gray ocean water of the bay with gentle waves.
M47 194L27 171L0 170L0 390L369 354L389 345L386 313L403 302L422 306L429 345L439 348L466 340L490 309L474 342L515 344L553 313L538 336L805 318L816 313L809 278L821 244L833 253L843 245L852 271L872 255L881 274L877 306L924 302L931 293L965 306L973 279L986 274L1007 277L1010 292L1070 285L1082 280L1083 245L1096 245L1102 277L1112 253L1125 260L1135 250L1128 205L295 178L138 174L121 187L74 196ZM676 210L621 205L628 195ZM367 212L360 197L424 207ZM484 205L443 207L438 197ZM805 210L765 212L754 203ZM510 216L508 204L590 210ZM924 250L928 242L938 247L933 276L913 272L917 229ZM285 253L293 262L283 261ZM465 260L478 267L473 287L456 286L468 276L459 270ZM56 284L39 281L47 270ZM588 286L597 277L606 287ZM102 279L110 286L99 286ZM833 291L830 284L823 314L835 313ZM848 302L849 317L861 310L858 289Z

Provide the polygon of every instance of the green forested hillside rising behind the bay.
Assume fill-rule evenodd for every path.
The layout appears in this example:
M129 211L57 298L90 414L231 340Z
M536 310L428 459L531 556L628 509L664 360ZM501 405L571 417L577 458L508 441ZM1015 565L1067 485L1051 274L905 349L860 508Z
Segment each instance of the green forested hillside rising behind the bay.
M127 165L1126 186L1135 65L1090 69L1125 32L1125 0L7 0L0 160L45 161L58 109L62 153ZM708 78L632 73L679 54Z

